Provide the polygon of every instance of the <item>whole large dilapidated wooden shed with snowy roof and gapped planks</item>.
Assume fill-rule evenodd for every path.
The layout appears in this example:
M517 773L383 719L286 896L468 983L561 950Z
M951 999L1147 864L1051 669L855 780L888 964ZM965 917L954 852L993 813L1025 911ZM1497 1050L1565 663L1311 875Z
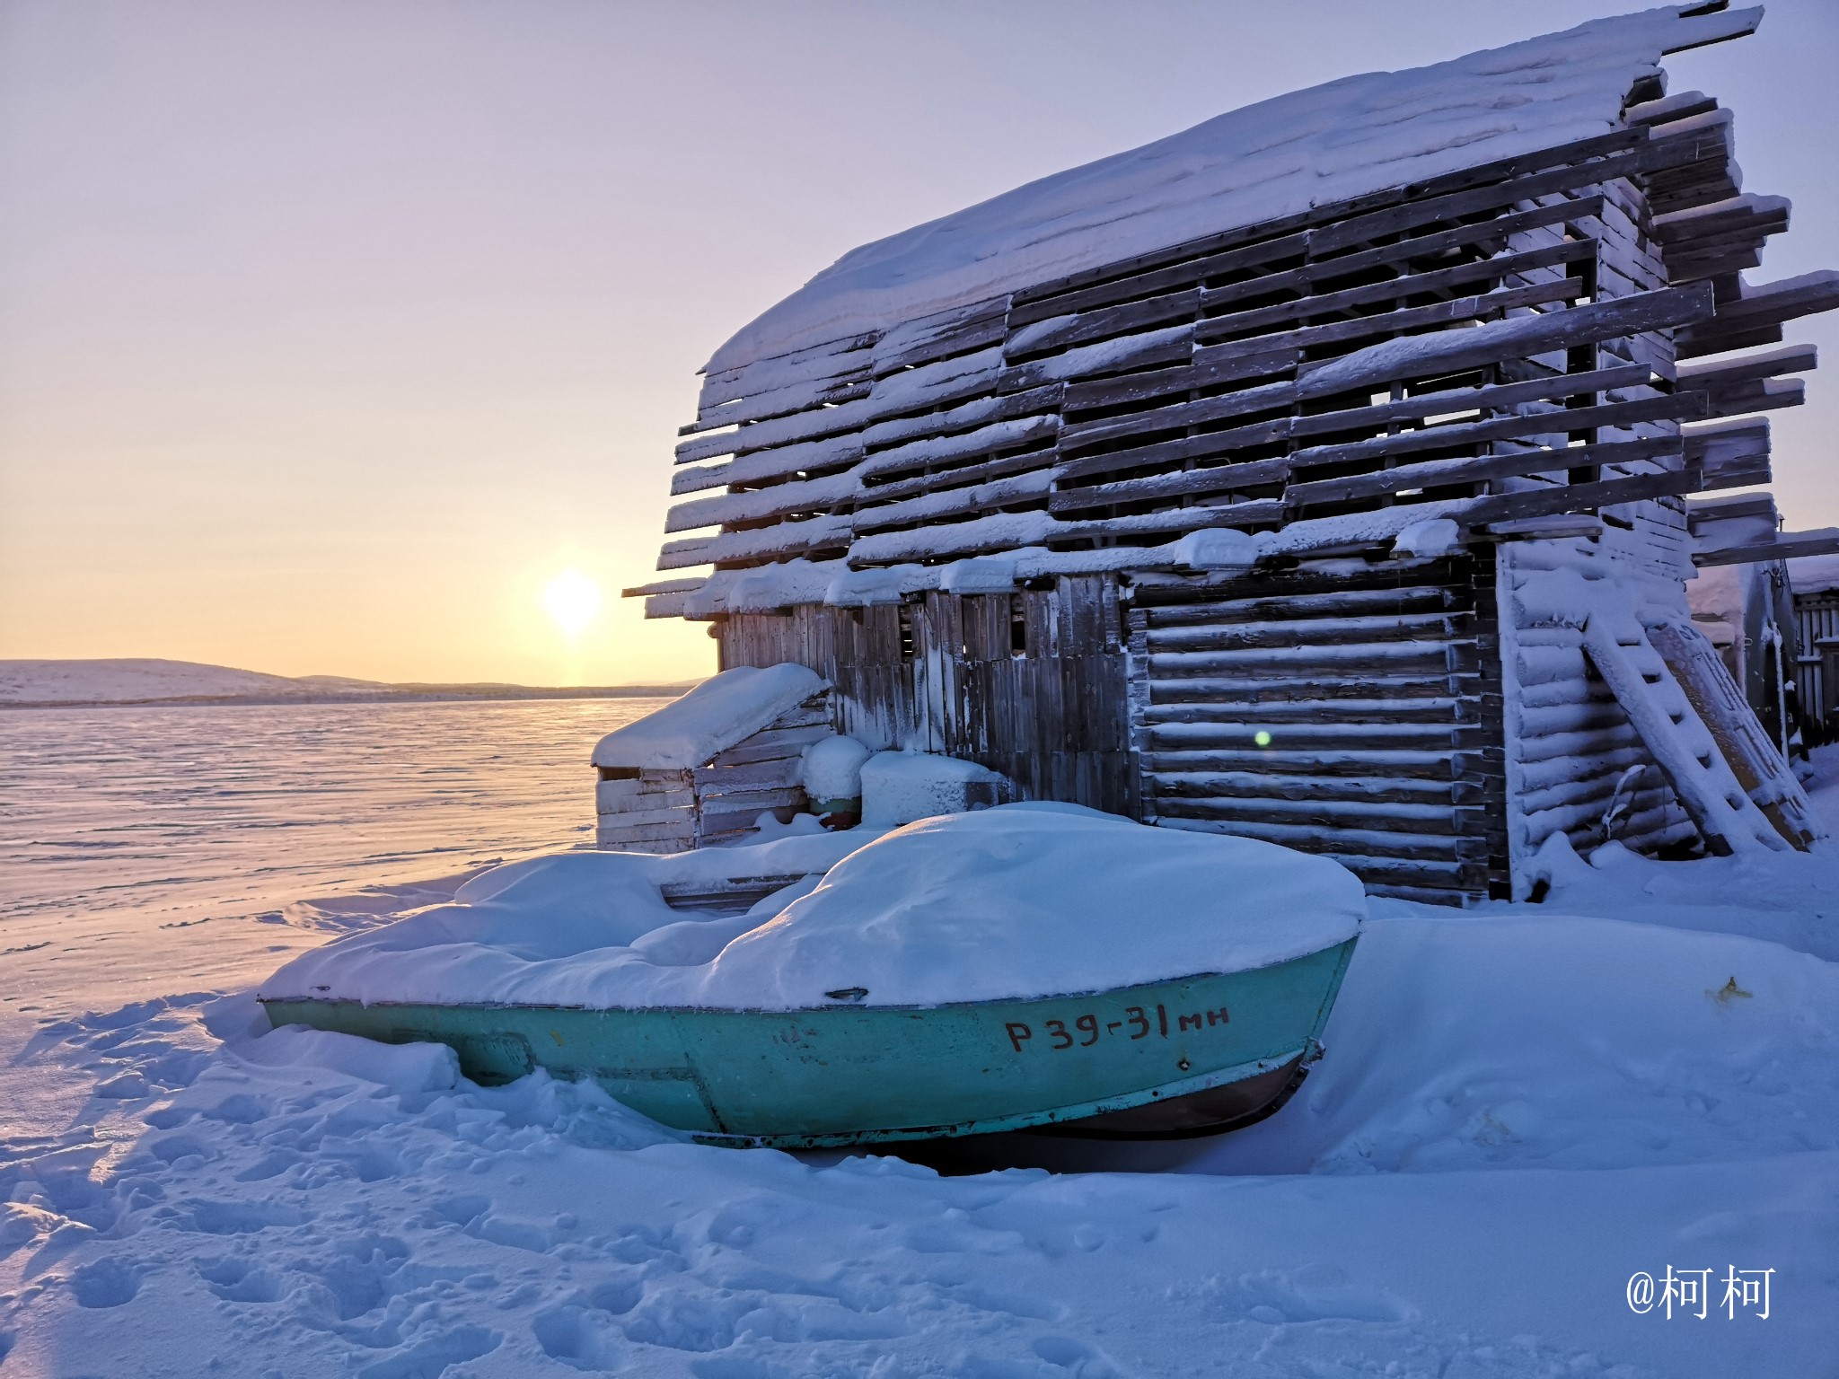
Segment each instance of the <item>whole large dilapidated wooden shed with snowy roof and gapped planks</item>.
M1771 346L1839 305L1745 278L1789 206L1668 94L1758 20L1350 77L844 256L706 364L627 592L872 748L1379 892L1525 895L1554 833L1802 846L1686 599L1782 553L1686 502L1769 480L1815 364Z

